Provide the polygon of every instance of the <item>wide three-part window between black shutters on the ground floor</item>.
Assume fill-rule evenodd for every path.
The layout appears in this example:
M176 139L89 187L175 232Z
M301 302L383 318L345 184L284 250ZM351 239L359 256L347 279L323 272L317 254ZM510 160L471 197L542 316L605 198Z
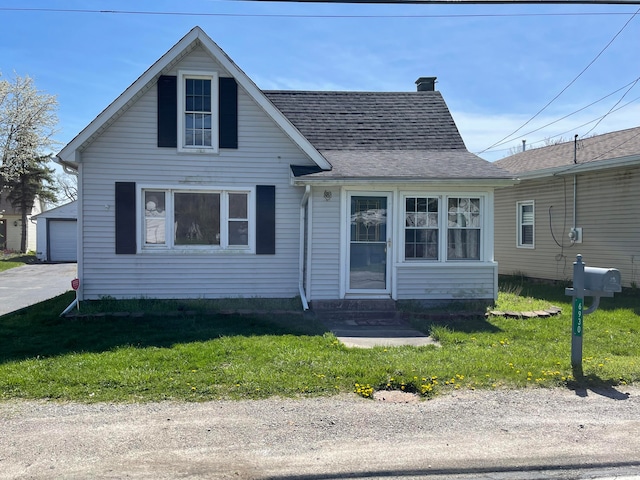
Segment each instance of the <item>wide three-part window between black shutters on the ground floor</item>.
M251 191L144 189L146 250L250 250Z

